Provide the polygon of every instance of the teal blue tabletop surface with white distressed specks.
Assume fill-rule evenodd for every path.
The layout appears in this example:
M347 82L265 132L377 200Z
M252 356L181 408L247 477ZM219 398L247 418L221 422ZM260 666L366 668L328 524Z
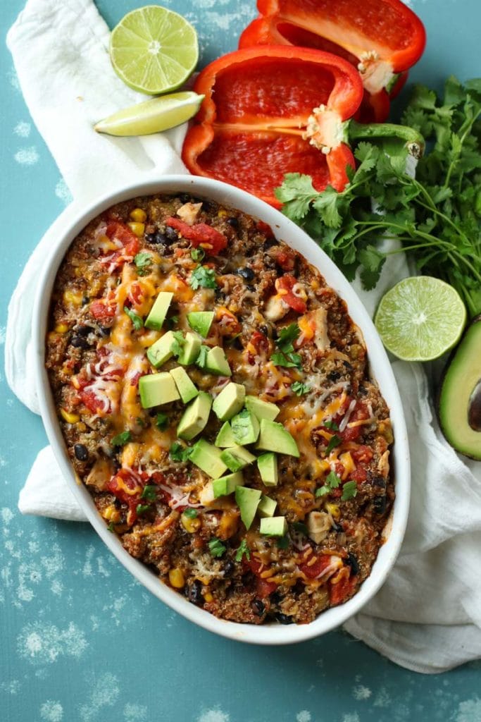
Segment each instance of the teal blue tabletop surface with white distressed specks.
M61 0L58 0L61 1ZM101 0L114 25L138 0ZM200 36L201 64L236 46L254 0L164 0ZM479 0L412 0L428 48L410 80L481 75ZM4 36L23 0L2 4ZM0 338L6 305L66 188L1 58ZM402 97L408 91L405 90ZM28 212L23 206L27 204ZM8 722L480 722L480 664L423 677L342 632L256 648L194 627L146 593L87 524L27 518L17 497L45 443L1 375L0 719ZM480 573L477 570L476 573Z

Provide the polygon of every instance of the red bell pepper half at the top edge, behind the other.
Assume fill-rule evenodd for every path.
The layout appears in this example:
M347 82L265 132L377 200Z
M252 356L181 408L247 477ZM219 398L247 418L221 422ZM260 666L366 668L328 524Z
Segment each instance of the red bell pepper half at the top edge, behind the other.
M300 45L345 58L363 78L363 122L387 119L425 47L423 23L400 0L257 0L257 9L239 48Z

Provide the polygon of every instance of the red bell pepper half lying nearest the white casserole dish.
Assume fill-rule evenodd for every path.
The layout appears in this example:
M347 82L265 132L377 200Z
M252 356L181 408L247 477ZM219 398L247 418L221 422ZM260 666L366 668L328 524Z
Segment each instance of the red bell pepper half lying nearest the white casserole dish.
M314 108L343 123L361 103L361 78L343 58L286 45L247 48L213 61L194 90L205 98L182 149L191 173L276 207L274 188L286 173L311 175L319 191L348 182L346 168L355 165L348 145L339 142L326 155L304 137Z

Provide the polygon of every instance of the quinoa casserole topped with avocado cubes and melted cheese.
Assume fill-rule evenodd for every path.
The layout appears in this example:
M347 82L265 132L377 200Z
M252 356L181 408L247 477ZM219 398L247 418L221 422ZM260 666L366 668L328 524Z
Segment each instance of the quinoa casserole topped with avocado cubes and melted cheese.
M252 624L358 591L389 409L345 302L268 225L187 193L112 206L63 259L46 346L76 474L162 582Z

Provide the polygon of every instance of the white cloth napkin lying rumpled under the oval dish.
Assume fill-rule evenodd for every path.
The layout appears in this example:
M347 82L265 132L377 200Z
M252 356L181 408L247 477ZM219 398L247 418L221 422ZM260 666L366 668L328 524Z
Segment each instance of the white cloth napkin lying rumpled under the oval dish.
M35 249L9 306L6 378L38 413L27 349L43 248L76 204L125 180L185 172L177 155L185 128L144 139L111 139L92 131L94 121L138 96L110 67L108 29L91 0L29 0L8 44L32 118L75 199ZM406 274L402 256L391 256L375 292L366 294L357 284L370 313L382 293ZM441 438L423 369L400 361L393 369L410 430L410 520L387 582L345 629L397 664L433 673L481 656L481 464L471 465L473 474ZM19 509L84 519L50 448L38 454L20 492Z

